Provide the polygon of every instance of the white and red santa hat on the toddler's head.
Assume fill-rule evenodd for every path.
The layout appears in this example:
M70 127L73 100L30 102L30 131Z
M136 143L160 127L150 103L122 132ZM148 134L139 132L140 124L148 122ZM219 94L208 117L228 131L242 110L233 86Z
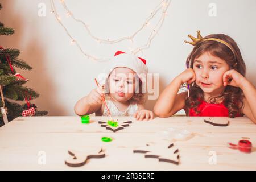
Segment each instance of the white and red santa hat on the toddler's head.
M101 78L101 82L106 82L109 74L113 71L114 68L117 67L125 67L133 70L142 81L142 93L146 93L146 76L148 73L148 68L146 65L147 61L141 57L137 57L135 55L131 55L129 53L125 53L122 51L115 52L114 57L109 61L108 67L105 68L105 78Z

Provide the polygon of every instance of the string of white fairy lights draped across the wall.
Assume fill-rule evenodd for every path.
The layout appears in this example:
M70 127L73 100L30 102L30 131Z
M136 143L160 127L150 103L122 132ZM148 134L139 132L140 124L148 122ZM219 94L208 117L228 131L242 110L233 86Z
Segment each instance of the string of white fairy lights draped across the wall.
M69 38L71 39L71 44L75 44L79 50L81 51L81 53L87 57L88 59L92 59L94 61L109 61L110 58L102 58L102 57L96 57L96 56L93 56L93 55L90 55L88 52L84 51L79 42L73 38L73 36L71 35L71 33L68 31L68 28L64 26L63 22L61 21L61 16L57 13L56 11L56 6L55 6L55 2L53 0L50 0L51 2L51 9L52 9L52 13L55 15L55 18L57 20L57 22L60 23L60 25L64 28L64 31L66 32L66 34L69 36ZM155 7L154 10L151 11L151 14L150 16L147 17L147 19L145 20L145 22L142 24L141 27L138 28L137 31L134 32L134 34L131 34L130 36L124 36L124 37L121 37L121 38L117 38L117 39L113 39L113 40L110 40L109 38L108 39L103 39L103 38L99 38L97 36L95 36L92 31L90 30L89 28L89 25L86 24L84 21L78 19L75 17L75 15L72 13L71 10L68 9L66 3L64 2L64 0L60 0L60 3L61 5L64 7L65 11L67 11L67 16L70 16L73 20L75 20L77 23L81 23L84 27L85 27L85 30L86 32L88 32L89 36L96 40L98 43L103 43L103 44L115 44L115 43L119 43L119 42L122 42L123 40L130 40L131 42L133 42L135 36L140 32L142 31L144 28L146 27L149 27L149 24L150 24L150 21L154 18L154 16L159 13L159 12L162 12L162 15L160 16L160 19L159 21L156 23L156 25L152 28L151 30L151 33L150 35L148 36L148 39L147 39L147 42L143 45L143 46L140 46L140 47L137 47L135 49L130 49L130 53L133 53L134 55L139 53L139 52L142 52L144 49L148 49L150 48L151 46L151 42L152 42L152 39L155 38L155 36L158 34L160 28L162 27L163 25L163 22L164 22L164 19L166 18L166 11L168 9L168 6L170 5L171 3L171 0L163 0L161 1L158 6ZM162 11L160 11L162 10Z

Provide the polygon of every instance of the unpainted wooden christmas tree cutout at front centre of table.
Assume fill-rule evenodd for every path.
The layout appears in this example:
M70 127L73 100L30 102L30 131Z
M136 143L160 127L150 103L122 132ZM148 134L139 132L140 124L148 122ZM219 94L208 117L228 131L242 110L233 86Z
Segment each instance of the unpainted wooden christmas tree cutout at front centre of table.
M134 153L143 153L145 158L157 158L159 162L168 162L179 164L179 149L174 144L169 146L147 144L145 147L139 147L133 150Z

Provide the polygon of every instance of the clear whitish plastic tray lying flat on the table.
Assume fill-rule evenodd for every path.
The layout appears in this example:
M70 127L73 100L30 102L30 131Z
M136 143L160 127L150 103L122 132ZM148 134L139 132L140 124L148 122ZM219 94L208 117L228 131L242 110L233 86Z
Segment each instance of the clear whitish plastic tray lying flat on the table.
M192 137L192 133L188 130L174 129L172 127L159 131L159 136L163 139L187 140Z

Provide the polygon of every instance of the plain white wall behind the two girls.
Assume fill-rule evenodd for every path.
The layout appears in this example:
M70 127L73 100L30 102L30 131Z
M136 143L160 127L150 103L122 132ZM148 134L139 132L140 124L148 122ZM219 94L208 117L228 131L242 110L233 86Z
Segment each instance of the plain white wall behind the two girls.
M46 4L46 17L38 16L38 4L41 2ZM93 34L114 39L135 32L160 0L65 2L77 18L90 25ZM15 28L15 34L0 36L0 45L18 48L22 52L20 59L34 68L19 73L30 79L26 86L40 94L35 104L40 110L48 110L49 115L75 115L75 102L95 87L93 78L107 63L88 60L75 45L71 45L71 40L50 13L50 1L2 0L1 3L0 21ZM216 3L216 17L208 15L209 3ZM148 27L135 37L134 44L129 41L99 44L88 36L81 24L65 15L60 1L56 0L55 4L65 26L81 47L92 55L111 57L118 49L129 52L129 47L144 44L150 33L151 27ZM188 40L187 34L196 35L196 30L201 30L203 36L224 33L236 40L247 65L247 78L256 85L255 0L173 0L167 14L151 47L138 54L147 60L151 73L159 73L160 92L185 68L185 59L192 46L183 41ZM152 109L154 104L155 100L148 101L146 107Z

